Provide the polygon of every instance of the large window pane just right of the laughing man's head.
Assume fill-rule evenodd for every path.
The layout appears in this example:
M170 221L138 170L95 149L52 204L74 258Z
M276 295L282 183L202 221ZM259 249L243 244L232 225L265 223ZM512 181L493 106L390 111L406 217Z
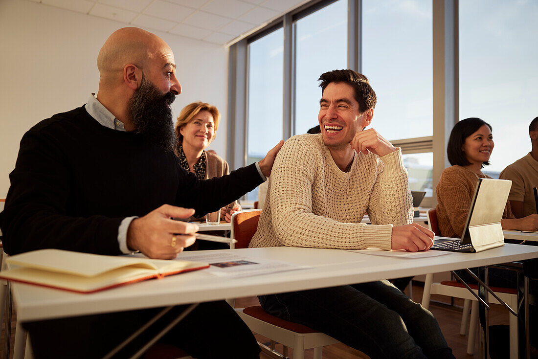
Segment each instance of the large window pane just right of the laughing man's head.
M378 98L372 127L389 140L433 135L431 0L362 4L362 72Z

